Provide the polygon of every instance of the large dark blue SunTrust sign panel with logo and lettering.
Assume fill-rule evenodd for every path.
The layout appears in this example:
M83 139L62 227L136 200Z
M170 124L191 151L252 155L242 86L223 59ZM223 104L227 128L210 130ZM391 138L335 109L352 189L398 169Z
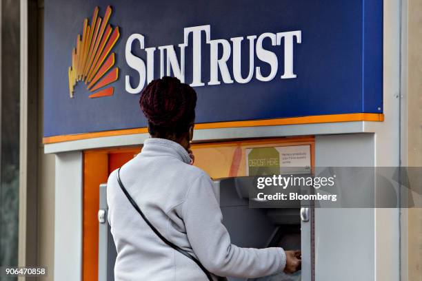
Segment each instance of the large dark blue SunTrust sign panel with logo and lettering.
M44 136L146 127L139 92L168 72L197 91L197 123L383 112L382 0L46 0L45 13Z

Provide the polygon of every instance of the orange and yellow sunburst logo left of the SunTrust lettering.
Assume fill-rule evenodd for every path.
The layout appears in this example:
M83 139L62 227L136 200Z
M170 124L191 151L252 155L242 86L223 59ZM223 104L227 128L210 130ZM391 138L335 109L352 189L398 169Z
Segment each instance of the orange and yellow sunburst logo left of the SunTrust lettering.
M110 6L103 19L98 17L98 11L96 7L91 25L88 25L88 19L83 21L82 39L78 34L76 48L72 50L72 66L68 70L70 98L73 98L74 86L78 81L85 82L87 90L93 93L90 98L112 96L114 87L105 86L119 78L118 67L109 71L115 62L115 54L110 52L120 37L119 27L113 29L108 24L112 13Z

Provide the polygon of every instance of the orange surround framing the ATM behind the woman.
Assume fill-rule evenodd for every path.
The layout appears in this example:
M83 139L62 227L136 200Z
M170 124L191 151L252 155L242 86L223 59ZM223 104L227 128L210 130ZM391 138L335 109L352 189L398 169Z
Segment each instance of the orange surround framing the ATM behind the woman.
M290 145L310 145L311 166L314 167L314 136L195 143L192 150L195 165L207 171L212 178L226 178L246 175L246 148ZM99 185L106 183L114 169L121 167L140 151L141 147L130 147L83 152L83 281L98 280Z

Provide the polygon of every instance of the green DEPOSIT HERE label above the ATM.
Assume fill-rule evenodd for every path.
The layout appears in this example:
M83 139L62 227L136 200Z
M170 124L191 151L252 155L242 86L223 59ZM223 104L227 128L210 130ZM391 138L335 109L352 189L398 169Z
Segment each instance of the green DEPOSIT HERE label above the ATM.
M249 176L280 174L280 154L275 147L252 148L248 154Z

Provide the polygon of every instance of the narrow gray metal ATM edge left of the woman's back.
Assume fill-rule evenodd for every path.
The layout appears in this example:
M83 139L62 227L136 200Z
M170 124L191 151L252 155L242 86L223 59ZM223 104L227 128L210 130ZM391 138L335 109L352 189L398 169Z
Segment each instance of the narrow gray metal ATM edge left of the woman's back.
M114 263L117 251L107 220L107 185L105 183L100 185L99 191L98 280L114 281Z

